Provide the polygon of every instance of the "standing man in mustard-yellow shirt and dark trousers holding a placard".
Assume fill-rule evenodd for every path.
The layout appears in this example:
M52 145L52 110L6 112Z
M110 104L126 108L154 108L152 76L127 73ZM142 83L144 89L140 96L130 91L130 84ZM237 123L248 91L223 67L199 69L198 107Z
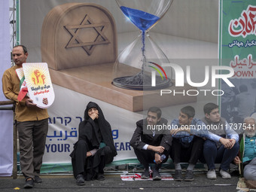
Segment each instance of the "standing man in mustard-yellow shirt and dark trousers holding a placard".
M23 45L17 45L12 50L15 66L6 70L2 77L2 89L7 99L16 103L15 122L20 141L20 166L26 179L24 188L32 188L35 183L41 183L39 177L45 140L48 131L47 109L38 108L28 96L22 101L17 99L20 92L20 79L15 70L23 67L29 53ZM47 99L44 99L47 105Z

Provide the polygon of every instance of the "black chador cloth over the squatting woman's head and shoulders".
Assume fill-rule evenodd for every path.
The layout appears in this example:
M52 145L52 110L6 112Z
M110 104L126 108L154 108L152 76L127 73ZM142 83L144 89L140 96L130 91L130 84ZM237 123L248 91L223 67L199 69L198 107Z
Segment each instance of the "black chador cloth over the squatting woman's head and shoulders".
M104 114L102 113L102 109L95 102L88 103L87 108L84 111L84 123L83 124L85 125L86 123L92 122L92 120L89 120L90 116L88 114L88 111L90 108L96 108L99 112L99 117L97 119L93 120L93 123L92 123L93 130L84 130L84 131L87 133L87 136L88 135L93 136L94 134L90 133L90 132L94 131L96 133L95 134L96 138L93 138L93 139L90 138L91 142L93 142L93 145L99 147L101 140L103 140L103 142L105 142L105 145L107 145L109 148L111 148L113 157L116 156L117 151L114 147L111 125L108 123L107 120L105 120ZM101 136L99 136L99 134L98 134L99 131L101 133Z

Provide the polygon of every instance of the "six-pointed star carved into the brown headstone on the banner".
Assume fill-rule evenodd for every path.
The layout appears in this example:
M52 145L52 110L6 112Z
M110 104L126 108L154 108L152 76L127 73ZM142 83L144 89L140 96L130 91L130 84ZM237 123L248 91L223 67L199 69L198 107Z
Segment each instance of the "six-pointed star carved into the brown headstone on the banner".
M93 49L99 44L110 44L108 38L103 34L104 29L108 23L92 23L90 17L86 14L80 25L64 26L64 28L72 35L66 48L82 47L86 53L90 56L93 53ZM91 42L83 42L79 38L80 29L93 28L97 35Z

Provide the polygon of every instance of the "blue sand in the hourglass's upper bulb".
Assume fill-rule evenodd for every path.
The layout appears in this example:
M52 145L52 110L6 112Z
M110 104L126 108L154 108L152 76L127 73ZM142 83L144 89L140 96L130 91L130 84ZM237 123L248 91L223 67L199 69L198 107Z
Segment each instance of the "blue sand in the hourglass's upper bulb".
M148 14L147 12L137 9L126 8L124 6L121 6L120 9L121 11L123 11L123 14L125 14L126 17L128 17L131 22L133 22L133 24L136 25L143 32L145 32L145 30L154 25L154 23L156 23L157 20L160 19L153 14Z

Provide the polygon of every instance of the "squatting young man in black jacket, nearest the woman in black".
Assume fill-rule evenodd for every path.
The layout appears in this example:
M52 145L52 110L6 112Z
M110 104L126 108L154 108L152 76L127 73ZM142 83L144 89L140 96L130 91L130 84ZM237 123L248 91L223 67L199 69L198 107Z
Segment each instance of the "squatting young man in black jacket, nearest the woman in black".
M149 108L148 117L136 122L137 127L130 141L139 162L145 168L143 179L150 177L149 163L155 163L153 180L161 180L159 169L168 159L172 145L172 137L166 126L167 120L161 118L161 114L160 108Z

